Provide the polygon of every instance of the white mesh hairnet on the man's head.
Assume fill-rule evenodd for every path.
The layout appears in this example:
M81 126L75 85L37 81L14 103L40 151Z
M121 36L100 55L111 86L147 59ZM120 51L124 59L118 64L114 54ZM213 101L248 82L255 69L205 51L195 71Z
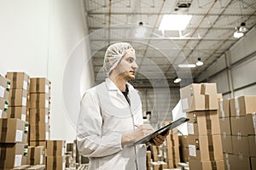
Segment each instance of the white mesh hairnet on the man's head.
M110 72L119 64L120 59L130 49L134 50L131 44L127 42L116 42L108 47L103 64L103 71L107 77L109 77Z

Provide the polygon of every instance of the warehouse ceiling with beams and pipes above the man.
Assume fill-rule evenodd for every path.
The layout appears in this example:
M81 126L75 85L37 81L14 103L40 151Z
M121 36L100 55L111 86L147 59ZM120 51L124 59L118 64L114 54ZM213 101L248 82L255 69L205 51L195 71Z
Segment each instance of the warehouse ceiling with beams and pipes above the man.
M104 79L106 48L122 41L136 50L139 68L131 83L137 88L166 82L175 86L176 77L182 78L183 85L195 82L239 40L233 37L235 27L244 22L246 37L256 25L255 0L84 0L84 10L96 83ZM160 31L164 14L191 14L192 19L183 31ZM138 28L146 29L141 37L136 36ZM195 64L198 58L204 65L178 67Z

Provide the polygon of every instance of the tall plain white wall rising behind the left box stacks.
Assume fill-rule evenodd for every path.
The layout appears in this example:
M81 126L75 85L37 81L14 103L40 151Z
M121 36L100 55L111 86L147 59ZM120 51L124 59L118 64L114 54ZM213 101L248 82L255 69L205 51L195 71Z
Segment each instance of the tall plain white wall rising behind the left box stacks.
M81 0L2 0L0 5L0 73L25 71L30 77L49 78L50 139L75 139L75 127L63 102L62 81L70 55L88 32L82 5ZM82 58L89 58L88 49L83 48ZM93 83L90 69L84 71L85 89ZM73 91L80 93L79 88ZM79 101L80 96L77 98ZM79 102L72 105L76 116Z

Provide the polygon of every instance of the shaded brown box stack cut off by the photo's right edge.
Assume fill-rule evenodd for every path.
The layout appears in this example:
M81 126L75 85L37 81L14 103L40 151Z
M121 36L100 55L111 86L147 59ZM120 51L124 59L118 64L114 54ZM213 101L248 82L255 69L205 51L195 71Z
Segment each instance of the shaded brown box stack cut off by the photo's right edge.
M224 99L219 105L225 168L256 169L256 96Z

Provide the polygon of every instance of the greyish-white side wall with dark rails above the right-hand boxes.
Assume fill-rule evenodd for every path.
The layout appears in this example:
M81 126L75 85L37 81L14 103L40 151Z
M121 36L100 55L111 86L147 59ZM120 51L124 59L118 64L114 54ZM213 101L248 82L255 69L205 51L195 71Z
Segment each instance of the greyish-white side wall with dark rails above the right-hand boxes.
M216 63L198 77L197 82L217 82L224 99L256 95L256 28L225 52ZM220 73L217 73L220 71Z

